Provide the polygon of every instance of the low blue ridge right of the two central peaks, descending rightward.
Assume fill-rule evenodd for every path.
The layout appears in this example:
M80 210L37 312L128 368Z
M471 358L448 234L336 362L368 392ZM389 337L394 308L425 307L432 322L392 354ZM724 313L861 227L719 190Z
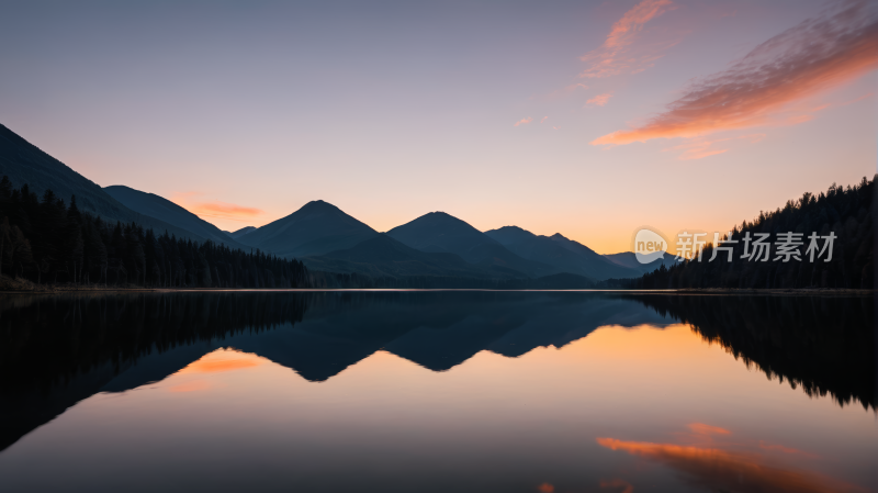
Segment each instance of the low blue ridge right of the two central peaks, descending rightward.
M592 279L621 279L642 276L642 271L614 262L587 246L565 238L560 233L552 236L534 235L518 226L504 226L485 232L510 251L532 261L585 276Z

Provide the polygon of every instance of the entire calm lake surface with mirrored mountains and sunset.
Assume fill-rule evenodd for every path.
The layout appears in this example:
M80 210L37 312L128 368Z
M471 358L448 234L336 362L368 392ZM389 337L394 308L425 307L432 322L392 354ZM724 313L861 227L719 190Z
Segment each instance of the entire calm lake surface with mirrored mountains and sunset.
M876 491L871 298L0 299L0 490Z

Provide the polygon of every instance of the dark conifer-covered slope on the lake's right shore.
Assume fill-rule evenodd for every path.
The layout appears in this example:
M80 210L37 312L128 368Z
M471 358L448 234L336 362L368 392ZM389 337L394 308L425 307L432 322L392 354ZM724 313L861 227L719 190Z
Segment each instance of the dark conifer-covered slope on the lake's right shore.
M608 279L598 283L605 289L873 289L875 235L874 201L875 179L865 177L847 188L832 184L825 193L817 195L806 192L798 200L790 200L775 211L761 212L753 221L744 221L731 229L734 244L731 247L731 261L728 250L719 254L712 261L717 245L708 243L693 259L658 269L637 279ZM799 259L784 261L778 255L778 235L800 233L801 245L796 247ZM832 259L829 250L811 259L808 255L808 237L817 233L821 238L833 236ZM770 240L767 259L745 254L744 237L768 234ZM821 250L824 248L822 239ZM750 254L754 253L751 246ZM671 251L668 251L671 253ZM819 254L819 253L818 253ZM765 259L765 261L762 261Z

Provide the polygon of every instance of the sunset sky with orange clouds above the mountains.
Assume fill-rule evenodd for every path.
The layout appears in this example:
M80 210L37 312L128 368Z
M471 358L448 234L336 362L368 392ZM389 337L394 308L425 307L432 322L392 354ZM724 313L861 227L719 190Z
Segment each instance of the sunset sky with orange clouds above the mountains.
M0 123L228 231L325 200L612 254L876 172L875 2L0 2Z

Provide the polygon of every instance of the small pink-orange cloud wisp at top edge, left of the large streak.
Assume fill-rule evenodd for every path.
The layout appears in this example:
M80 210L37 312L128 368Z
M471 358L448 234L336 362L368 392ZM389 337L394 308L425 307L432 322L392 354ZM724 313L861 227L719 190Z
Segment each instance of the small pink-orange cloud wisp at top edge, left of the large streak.
M661 57L656 48L667 48L676 42L665 43L663 46L652 45L650 49L638 52L632 51L632 45L644 24L675 8L671 0L643 0L634 5L612 25L599 48L582 56L581 59L589 65L579 77L601 78L644 70Z

